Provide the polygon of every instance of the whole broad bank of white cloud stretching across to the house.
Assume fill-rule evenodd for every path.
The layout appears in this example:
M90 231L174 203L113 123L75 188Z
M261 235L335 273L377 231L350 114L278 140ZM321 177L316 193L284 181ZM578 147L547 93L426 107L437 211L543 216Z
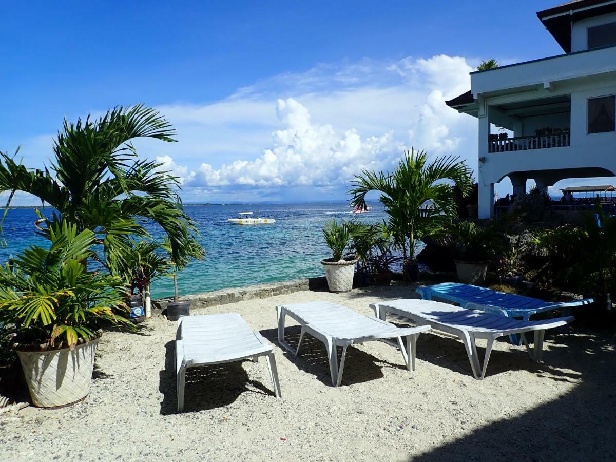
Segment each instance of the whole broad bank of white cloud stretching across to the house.
M164 107L163 113L179 115L179 132L190 126L211 134L214 127L237 124L239 139L227 137L222 154L204 155L196 166L190 165L198 157L194 149L188 156L182 151L159 159L183 177L187 193L208 191L211 198L238 200L246 188L253 188L252 198L271 197L277 188L285 188L286 194L288 188L301 187L341 193L362 169L392 168L407 146L433 156L459 154L472 164L476 121L445 105L446 99L468 90L469 71L465 59L446 55L320 65L304 74L258 82L215 105L186 111L181 105ZM253 143L256 155L250 148L238 149L249 137L241 128L259 132ZM269 139L264 142L266 131ZM195 140L189 142L190 150Z

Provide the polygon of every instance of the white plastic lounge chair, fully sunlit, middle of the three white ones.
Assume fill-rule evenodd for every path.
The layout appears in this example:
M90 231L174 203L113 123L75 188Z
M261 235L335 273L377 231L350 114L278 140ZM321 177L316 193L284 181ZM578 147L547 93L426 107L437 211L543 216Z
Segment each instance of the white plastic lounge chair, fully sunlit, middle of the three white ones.
M306 333L325 344L330 362L331 383L334 387L342 383L344 359L349 345L371 340L396 338L408 370L411 370L411 368L415 370L415 342L420 333L429 330L429 326L402 329L391 323L364 316L352 309L330 302L282 305L277 306L276 310L278 312L278 343L281 346L294 355L298 355ZM296 349L285 341L286 315L289 315L302 326ZM406 339L406 348L402 337ZM342 347L340 368L338 368L338 352L336 351L338 346ZM407 349L410 352L410 360L408 359Z

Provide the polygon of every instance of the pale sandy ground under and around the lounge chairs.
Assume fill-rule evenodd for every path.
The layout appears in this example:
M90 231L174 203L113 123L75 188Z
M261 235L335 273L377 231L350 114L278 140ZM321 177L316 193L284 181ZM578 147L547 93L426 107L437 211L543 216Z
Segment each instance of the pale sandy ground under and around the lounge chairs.
M409 296L396 287L298 292L193 312L238 312L261 331L283 397L264 359L194 369L179 415L177 323L159 316L139 334L105 333L86 400L0 416L0 460L615 460L607 331L574 324L549 334L542 364L498 342L484 381L472 378L460 342L432 333L418 340L415 372L383 342L351 347L341 387L331 386L320 342L309 339L298 358L277 346L276 304L328 300L370 315L370 302ZM299 329L289 331L293 343Z

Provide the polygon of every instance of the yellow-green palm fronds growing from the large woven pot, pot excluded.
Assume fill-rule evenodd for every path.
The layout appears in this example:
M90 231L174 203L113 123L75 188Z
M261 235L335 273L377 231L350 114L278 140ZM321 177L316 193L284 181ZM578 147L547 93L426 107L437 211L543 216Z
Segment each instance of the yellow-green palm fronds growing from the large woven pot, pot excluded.
M103 322L134 328L114 314L128 314L124 281L86 267L94 232L63 221L51 224L49 239L49 249L31 246L0 266L0 325L14 340L73 348L94 338Z

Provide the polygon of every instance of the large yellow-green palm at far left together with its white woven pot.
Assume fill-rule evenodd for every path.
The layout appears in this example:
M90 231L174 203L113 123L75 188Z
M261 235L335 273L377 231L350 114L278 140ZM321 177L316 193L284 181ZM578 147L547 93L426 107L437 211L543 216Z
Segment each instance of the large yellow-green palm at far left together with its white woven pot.
M101 323L132 324L120 277L87 269L91 230L66 221L49 228L49 249L31 246L0 266L0 325L7 326L34 405L57 407L86 397ZM134 328L134 327L133 327Z

